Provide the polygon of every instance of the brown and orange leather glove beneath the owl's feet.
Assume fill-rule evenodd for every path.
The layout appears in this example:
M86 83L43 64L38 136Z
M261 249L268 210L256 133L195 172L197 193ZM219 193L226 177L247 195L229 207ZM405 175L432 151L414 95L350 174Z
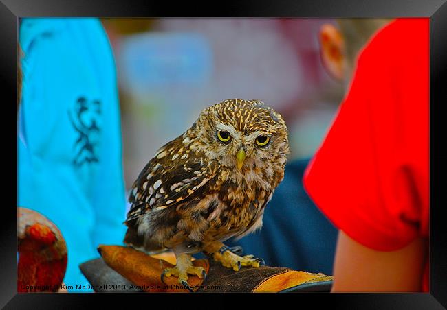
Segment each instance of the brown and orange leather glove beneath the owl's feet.
M100 246L103 261L92 260L80 265L95 291L177 291L186 292L179 287L177 278L168 277L161 281L166 267L175 263L172 256L161 259L122 246ZM170 261L170 262L168 262ZM290 270L285 267L261 266L242 267L239 272L223 267L212 259L197 259L194 265L201 265L207 271L205 283L197 276L190 276L188 283L194 291L203 293L221 292L279 292L279 291L329 291L332 277ZM120 279L120 280L119 280ZM106 283L106 284L104 284ZM107 285L109 283L109 285ZM115 290L116 291L116 290Z

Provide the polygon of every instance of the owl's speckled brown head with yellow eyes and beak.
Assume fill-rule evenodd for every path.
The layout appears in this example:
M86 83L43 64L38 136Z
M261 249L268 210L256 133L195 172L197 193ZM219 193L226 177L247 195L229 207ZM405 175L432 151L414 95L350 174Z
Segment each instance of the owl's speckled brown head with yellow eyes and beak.
M260 100L227 99L210 106L188 132L197 150L238 171L269 162L284 165L290 152L283 118Z

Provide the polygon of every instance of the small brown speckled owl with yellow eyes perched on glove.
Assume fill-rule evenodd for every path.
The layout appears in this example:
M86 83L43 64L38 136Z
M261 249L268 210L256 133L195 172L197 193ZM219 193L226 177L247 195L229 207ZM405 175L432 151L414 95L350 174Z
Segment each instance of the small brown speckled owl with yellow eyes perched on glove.
M164 276L188 286L200 278L191 255L223 266L259 267L223 241L261 228L266 204L284 177L287 127L260 100L227 99L204 109L191 128L160 148L133 183L124 243L144 252L171 250L177 264Z

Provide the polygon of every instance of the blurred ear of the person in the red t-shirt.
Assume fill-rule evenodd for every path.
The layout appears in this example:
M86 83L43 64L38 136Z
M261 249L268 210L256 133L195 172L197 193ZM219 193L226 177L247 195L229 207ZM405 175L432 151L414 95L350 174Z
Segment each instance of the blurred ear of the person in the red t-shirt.
M334 25L325 24L320 28L320 53L325 69L338 80L345 78L345 43L343 36Z

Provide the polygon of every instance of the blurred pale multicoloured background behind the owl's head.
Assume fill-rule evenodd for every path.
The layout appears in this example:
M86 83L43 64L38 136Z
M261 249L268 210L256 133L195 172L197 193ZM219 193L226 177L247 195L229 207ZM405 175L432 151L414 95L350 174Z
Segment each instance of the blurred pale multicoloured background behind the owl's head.
M283 115L290 160L310 157L343 86L323 68L326 19L102 19L118 72L129 190L164 143L223 99L261 99Z

